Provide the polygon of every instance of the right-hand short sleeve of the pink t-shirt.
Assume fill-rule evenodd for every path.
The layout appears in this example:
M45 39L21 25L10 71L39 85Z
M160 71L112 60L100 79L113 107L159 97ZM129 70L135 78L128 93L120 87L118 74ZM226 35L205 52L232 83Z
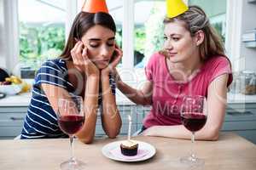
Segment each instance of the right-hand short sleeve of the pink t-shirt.
M232 70L230 65L230 60L225 57L218 57L212 61L212 72L211 72L211 79L212 82L215 78L228 74L229 79L227 83L227 87L230 86L231 82L233 81Z

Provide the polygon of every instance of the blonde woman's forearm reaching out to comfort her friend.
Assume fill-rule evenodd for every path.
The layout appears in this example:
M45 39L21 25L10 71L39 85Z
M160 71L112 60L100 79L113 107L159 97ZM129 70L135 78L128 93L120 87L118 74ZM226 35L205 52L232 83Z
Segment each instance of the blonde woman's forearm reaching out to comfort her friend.
M151 96L149 94L144 94L142 90L131 88L131 86L122 81L117 82L117 86L128 99L131 99L131 101L137 105L151 104Z

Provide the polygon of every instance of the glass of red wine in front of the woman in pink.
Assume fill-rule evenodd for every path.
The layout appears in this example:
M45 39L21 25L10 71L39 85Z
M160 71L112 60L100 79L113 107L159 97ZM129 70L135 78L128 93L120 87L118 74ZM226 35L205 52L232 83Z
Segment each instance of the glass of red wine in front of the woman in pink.
M184 156L180 161L187 165L204 165L204 160L195 156L193 146L195 132L199 131L207 122L207 99L201 95L184 96L181 105L181 121L191 133L192 148L190 156Z

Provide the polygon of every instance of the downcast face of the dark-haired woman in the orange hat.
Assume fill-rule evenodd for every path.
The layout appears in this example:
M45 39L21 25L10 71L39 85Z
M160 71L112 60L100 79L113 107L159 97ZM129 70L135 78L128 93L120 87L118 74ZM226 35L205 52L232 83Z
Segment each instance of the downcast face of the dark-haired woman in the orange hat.
M99 69L106 68L114 51L114 32L106 27L96 25L86 31L81 40L88 48L89 59Z

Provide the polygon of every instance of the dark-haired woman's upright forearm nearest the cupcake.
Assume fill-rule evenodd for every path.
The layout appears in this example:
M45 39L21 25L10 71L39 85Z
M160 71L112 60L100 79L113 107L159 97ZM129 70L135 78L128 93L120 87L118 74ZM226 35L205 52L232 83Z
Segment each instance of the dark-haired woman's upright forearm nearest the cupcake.
M122 125L121 117L117 109L115 96L109 84L109 77L102 76L102 127L109 138L115 138L119 134Z

